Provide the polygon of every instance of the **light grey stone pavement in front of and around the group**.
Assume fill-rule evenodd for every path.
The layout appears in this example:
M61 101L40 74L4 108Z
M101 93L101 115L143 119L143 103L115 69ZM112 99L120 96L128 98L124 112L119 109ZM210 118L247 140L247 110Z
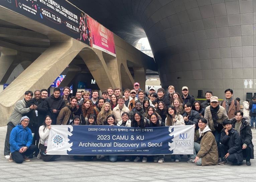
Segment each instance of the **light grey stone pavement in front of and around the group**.
M62 156L54 162L43 162L34 157L30 162L16 164L3 156L6 128L0 127L0 182L256 182L256 160L251 160L252 166L246 166L244 161L242 166L228 164L202 167L187 164L186 156L183 156L181 162L170 162L167 159L162 164L124 162L121 158L115 163L105 160L85 162ZM253 136L256 136L255 129ZM256 144L256 139L253 139L253 143Z

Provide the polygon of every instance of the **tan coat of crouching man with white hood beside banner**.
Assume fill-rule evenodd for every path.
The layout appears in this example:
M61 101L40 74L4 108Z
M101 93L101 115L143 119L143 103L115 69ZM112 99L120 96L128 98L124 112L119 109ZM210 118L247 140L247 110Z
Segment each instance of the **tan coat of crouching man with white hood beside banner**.
M197 157L202 158L202 166L217 165L219 161L219 154L217 143L212 132L202 134L203 138L200 142L200 151Z

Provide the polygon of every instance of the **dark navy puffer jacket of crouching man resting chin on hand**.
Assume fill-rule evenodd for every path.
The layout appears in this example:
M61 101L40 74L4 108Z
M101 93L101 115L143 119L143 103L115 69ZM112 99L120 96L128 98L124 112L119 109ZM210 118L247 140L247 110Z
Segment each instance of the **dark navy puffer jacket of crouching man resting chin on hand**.
M225 128L221 130L221 143L229 148L229 154L235 155L238 163L243 161L241 137L234 128L229 130L229 135L226 135Z

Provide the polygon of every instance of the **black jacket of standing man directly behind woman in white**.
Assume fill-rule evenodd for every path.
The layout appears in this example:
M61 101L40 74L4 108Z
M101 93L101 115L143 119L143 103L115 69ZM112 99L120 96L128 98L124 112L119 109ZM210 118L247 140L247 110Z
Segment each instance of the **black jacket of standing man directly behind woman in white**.
M57 116L60 110L65 107L65 103L60 96L58 98L55 98L53 94L50 97L46 98L45 102L47 103L48 107L48 115L51 116L52 125L56 125ZM53 113L53 109L57 110L57 112Z

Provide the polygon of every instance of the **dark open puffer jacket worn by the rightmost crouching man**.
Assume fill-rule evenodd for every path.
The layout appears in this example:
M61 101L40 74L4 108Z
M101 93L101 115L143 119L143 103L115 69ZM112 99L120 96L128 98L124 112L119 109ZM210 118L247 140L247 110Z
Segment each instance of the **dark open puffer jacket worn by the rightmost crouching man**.
M236 119L233 118L231 119L232 121L232 127L235 128L235 124L236 124ZM252 144L252 130L250 127L250 124L245 121L245 119L242 119L242 126L240 128L240 137L241 137L241 146L243 146L243 144L246 144L247 147L249 147L251 149L251 159L254 159L254 150L253 150L253 144Z

